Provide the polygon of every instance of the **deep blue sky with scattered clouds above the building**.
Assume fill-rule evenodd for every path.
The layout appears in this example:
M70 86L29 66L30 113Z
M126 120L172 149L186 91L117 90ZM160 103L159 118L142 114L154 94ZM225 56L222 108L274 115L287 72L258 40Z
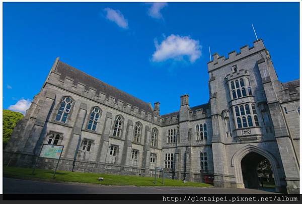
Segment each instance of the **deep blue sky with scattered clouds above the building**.
M252 23L279 80L298 79L298 3L4 3L3 108L22 112L57 56L160 101L161 114L179 110L186 93L191 106L207 103L208 46L220 55L251 46Z

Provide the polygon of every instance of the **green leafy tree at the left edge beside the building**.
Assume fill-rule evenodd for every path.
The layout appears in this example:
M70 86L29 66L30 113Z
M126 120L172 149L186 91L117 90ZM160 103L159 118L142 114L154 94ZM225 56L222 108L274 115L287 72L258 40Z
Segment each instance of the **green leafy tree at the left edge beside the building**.
M11 110L3 110L3 148L8 144L17 122L24 115Z

